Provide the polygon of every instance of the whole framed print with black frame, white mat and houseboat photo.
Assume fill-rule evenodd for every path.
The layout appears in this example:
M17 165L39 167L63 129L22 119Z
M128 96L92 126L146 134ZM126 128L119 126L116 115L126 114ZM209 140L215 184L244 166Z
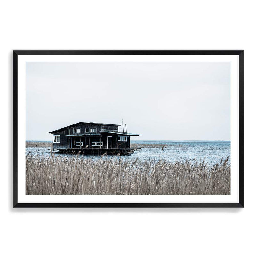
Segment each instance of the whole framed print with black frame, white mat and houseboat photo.
M13 51L13 207L243 207L243 51Z

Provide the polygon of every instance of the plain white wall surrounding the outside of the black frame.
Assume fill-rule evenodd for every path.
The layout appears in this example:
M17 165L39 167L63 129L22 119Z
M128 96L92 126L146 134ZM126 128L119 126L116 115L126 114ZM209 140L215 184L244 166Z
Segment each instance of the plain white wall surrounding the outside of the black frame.
M1 148L1 251L214 256L254 251L254 3L8 1L3 10L0 104L7 127L0 129L7 136L2 137ZM12 209L13 49L244 49L245 208Z

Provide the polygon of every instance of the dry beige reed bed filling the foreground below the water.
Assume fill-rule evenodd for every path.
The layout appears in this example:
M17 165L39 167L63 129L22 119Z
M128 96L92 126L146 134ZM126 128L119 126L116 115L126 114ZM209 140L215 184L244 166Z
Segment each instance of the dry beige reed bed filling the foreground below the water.
M230 194L230 164L27 153L26 194Z

